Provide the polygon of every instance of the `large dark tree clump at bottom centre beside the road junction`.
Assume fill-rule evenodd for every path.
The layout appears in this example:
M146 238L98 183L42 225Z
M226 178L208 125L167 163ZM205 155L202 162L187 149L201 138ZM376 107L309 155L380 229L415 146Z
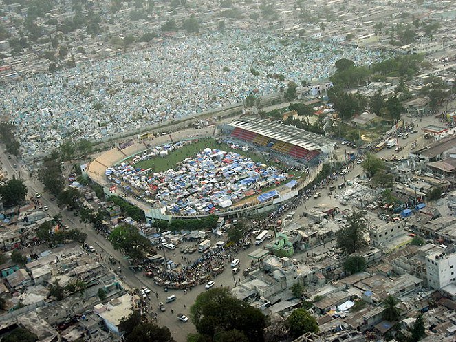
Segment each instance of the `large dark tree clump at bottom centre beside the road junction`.
M239 330L250 342L263 340L266 317L257 308L230 295L226 287L211 288L198 295L190 308L199 334L215 337L219 331Z

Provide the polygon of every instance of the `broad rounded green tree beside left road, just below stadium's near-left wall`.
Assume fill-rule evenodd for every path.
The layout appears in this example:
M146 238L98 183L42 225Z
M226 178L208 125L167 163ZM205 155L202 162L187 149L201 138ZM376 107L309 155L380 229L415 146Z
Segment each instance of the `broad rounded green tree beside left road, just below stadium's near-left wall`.
M151 244L146 237L140 235L137 228L130 224L123 224L114 228L109 235L109 241L114 249L124 250L133 259L144 259L145 253Z

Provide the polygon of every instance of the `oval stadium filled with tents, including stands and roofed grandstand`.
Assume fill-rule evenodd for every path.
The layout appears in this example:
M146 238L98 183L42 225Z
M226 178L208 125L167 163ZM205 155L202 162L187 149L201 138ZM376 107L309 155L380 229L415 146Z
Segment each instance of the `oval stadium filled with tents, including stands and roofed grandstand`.
M242 217L292 200L332 156L334 142L257 118L122 143L87 166L105 194L146 221Z

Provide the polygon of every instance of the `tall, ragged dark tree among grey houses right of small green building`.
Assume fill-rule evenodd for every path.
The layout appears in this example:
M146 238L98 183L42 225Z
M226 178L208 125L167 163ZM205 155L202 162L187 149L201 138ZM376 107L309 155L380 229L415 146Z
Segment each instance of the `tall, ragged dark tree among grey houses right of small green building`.
M361 211L354 211L347 217L347 226L336 233L337 246L347 255L366 246L364 237L366 224Z

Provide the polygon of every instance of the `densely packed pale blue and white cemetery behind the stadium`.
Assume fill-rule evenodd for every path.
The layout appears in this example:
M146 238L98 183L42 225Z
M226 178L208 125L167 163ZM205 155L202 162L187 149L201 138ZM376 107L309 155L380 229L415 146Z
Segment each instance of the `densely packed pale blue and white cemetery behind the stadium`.
M75 131L87 140L107 138L242 103L252 91L273 94L288 81L327 78L340 58L369 65L380 52L265 33L210 32L10 83L0 89L0 108L19 127L23 155L31 156Z

